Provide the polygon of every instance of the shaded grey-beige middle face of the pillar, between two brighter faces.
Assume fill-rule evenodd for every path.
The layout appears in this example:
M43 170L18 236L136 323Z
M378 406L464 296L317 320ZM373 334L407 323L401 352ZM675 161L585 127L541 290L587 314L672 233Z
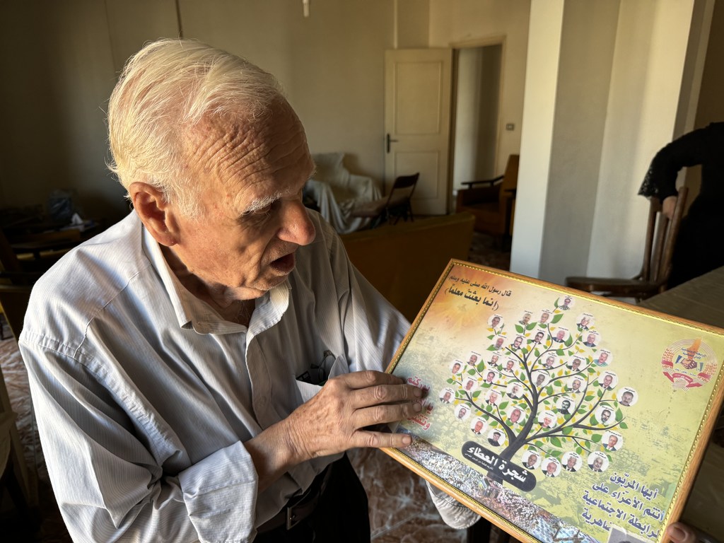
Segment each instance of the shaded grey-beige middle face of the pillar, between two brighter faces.
M558 282L588 263L618 4L565 2L540 264L540 277Z

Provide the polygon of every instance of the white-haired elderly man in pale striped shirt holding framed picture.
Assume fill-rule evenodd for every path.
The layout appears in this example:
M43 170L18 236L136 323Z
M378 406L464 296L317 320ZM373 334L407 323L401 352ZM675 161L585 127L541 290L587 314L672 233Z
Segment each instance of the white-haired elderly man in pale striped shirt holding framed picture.
M109 136L133 211L38 282L20 338L73 539L369 541L343 453L411 442L370 429L420 411L380 371L408 323L303 206L314 165L274 78L151 43Z

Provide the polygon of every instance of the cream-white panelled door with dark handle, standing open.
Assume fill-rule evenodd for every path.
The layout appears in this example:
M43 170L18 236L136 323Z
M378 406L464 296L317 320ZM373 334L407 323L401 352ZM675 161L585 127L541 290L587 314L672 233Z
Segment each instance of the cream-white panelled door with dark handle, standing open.
M447 213L452 49L394 49L384 55L385 190L420 172L413 212Z

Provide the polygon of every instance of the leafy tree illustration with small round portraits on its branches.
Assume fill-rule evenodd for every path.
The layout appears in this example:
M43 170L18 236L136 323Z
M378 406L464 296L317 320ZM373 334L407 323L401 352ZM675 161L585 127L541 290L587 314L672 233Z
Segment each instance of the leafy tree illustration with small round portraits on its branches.
M488 323L487 349L471 355L447 379L455 405L465 405L498 432L501 448L495 454L501 460L510 461L521 450L559 462L563 455L586 461L596 452L610 463L620 450L633 392L613 386L615 373L607 367L611 353L599 344L592 316L574 319L568 303L556 300L540 319L528 312L521 320L510 319L512 325L495 314ZM567 327L564 317L571 321ZM500 481L497 473L489 476Z

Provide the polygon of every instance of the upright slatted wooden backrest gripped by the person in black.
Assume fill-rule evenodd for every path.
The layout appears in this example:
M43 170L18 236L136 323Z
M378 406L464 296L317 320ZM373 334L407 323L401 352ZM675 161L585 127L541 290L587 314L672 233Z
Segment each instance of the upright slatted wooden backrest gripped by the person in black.
M671 273L671 258L678 236L683 209L689 189L682 187L678 191L676 206L671 219L661 212L659 198L651 198L649 220L644 247L644 264L641 267L641 280L665 285Z

